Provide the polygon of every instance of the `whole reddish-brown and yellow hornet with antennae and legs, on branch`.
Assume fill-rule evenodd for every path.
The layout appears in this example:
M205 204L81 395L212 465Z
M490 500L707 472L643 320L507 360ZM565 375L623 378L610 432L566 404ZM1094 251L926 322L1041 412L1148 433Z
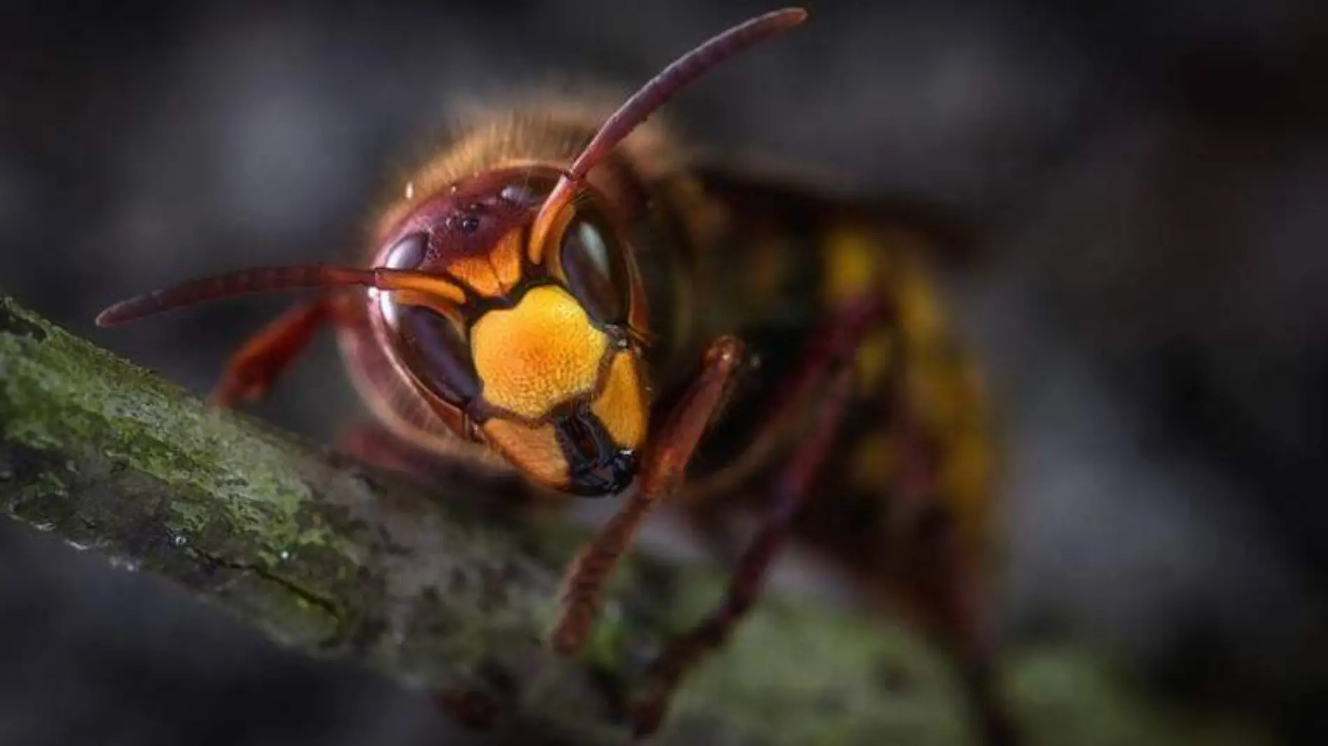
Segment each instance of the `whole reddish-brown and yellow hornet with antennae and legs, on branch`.
M618 558L661 499L710 536L760 516L721 607L649 670L640 734L728 637L791 535L870 603L938 636L987 742L1011 743L983 603L992 438L924 263L947 232L696 162L645 123L705 70L805 16L740 24L612 112L493 114L409 178L363 267L242 269L98 321L313 288L234 357L214 401L263 394L331 325L381 425L361 441L367 455L409 447L515 469L555 492L623 495L568 569L560 652L584 641Z

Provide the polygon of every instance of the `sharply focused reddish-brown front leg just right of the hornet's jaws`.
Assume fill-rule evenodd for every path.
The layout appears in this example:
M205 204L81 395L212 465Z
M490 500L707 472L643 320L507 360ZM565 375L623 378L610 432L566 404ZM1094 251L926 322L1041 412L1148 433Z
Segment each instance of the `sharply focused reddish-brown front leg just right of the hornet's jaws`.
M675 492L683 482L692 453L724 401L741 356L742 342L734 337L710 342L701 373L653 438L636 488L572 560L562 585L562 616L551 634L559 653L575 653L586 642L619 558L655 503Z

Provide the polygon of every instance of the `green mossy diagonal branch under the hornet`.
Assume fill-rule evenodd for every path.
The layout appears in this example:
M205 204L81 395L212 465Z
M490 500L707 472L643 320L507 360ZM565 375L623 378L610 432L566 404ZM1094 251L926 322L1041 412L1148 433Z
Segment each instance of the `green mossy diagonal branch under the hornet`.
M467 512L518 481L457 465L433 494L215 411L0 296L0 506L150 569L275 641L406 685L471 693L550 742L622 742L635 661L720 591L636 559L590 649L543 645L576 532ZM1247 743L1182 726L1084 656L1025 653L1012 694L1037 743ZM948 672L876 620L770 599L691 680L661 743L965 743Z

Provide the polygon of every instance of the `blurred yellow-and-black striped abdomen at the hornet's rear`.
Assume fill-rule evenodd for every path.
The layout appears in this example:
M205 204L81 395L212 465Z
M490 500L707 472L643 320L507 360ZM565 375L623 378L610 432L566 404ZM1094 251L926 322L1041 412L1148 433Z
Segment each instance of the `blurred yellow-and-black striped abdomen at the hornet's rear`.
M853 427L858 437L842 449L831 479L849 494L888 495L902 459L926 459L960 543L983 552L996 478L991 414L976 361L924 263L927 250L926 235L903 227L839 224L822 239L827 304L874 292L891 309L857 354L862 411L874 419Z

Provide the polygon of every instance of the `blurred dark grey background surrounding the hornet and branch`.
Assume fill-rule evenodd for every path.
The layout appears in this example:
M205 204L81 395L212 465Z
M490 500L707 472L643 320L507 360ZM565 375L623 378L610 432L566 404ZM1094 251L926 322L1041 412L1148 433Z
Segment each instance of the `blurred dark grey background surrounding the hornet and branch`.
M810 7L807 27L669 113L704 145L931 199L981 227L947 292L1004 417L1008 633L1094 640L1167 696L1323 742L1328 9ZM632 85L770 5L0 8L0 289L203 392L280 299L116 332L94 329L96 312L216 269L344 256L457 98ZM331 338L259 408L317 438L357 411ZM50 544L0 532L0 741L428 730L417 702ZM48 700L11 696L37 680ZM108 690L159 698L157 725ZM74 708L98 725L52 715Z

